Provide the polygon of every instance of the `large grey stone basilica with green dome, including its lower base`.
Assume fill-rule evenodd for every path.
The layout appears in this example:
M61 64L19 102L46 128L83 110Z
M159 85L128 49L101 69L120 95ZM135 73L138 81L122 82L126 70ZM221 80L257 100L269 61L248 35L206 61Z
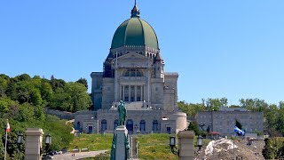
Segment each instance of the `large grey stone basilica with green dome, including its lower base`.
M129 133L185 130L186 114L177 108L176 72L165 72L154 28L140 19L137 4L115 30L102 72L91 73L94 111L75 113L81 132L114 132L117 107L125 102Z

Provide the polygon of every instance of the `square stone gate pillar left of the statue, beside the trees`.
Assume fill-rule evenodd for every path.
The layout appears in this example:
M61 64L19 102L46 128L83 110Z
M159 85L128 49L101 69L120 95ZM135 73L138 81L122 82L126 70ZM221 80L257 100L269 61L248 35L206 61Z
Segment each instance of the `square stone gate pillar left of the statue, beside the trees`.
M26 135L25 160L41 160L43 130L39 128L28 128Z

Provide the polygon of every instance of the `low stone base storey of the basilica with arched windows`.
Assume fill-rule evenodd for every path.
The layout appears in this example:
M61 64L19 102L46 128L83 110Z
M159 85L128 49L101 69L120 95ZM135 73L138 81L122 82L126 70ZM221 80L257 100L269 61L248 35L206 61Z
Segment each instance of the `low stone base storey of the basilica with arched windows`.
M113 109L98 111L80 111L75 113L75 130L85 133L114 132L118 124L118 112ZM176 133L184 130L186 114L167 112L159 109L127 110L126 127L130 134L167 132ZM99 130L98 130L99 129Z

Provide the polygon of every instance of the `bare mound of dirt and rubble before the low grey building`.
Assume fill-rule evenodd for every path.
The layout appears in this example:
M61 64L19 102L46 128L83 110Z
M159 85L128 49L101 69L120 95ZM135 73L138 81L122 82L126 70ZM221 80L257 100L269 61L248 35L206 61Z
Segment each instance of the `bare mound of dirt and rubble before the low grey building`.
M263 160L264 140L254 140L247 145L247 140L212 140L206 148L196 153L195 160L228 160L242 156L243 160Z

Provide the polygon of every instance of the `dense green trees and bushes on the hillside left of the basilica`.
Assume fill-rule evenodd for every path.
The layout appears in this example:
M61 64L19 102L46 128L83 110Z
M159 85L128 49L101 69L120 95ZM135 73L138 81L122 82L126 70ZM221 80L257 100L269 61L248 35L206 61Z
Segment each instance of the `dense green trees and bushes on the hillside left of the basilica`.
M87 93L87 82L66 83L64 80L30 77L27 74L9 77L0 75L0 157L4 157L5 126L11 126L8 134L7 153L11 159L23 159L24 145L17 144L20 132L27 128L43 128L52 136L52 149L67 148L74 135L66 121L56 116L46 116L44 108L55 108L75 112L90 108L91 98ZM43 144L44 145L44 144ZM44 148L44 146L43 146Z

